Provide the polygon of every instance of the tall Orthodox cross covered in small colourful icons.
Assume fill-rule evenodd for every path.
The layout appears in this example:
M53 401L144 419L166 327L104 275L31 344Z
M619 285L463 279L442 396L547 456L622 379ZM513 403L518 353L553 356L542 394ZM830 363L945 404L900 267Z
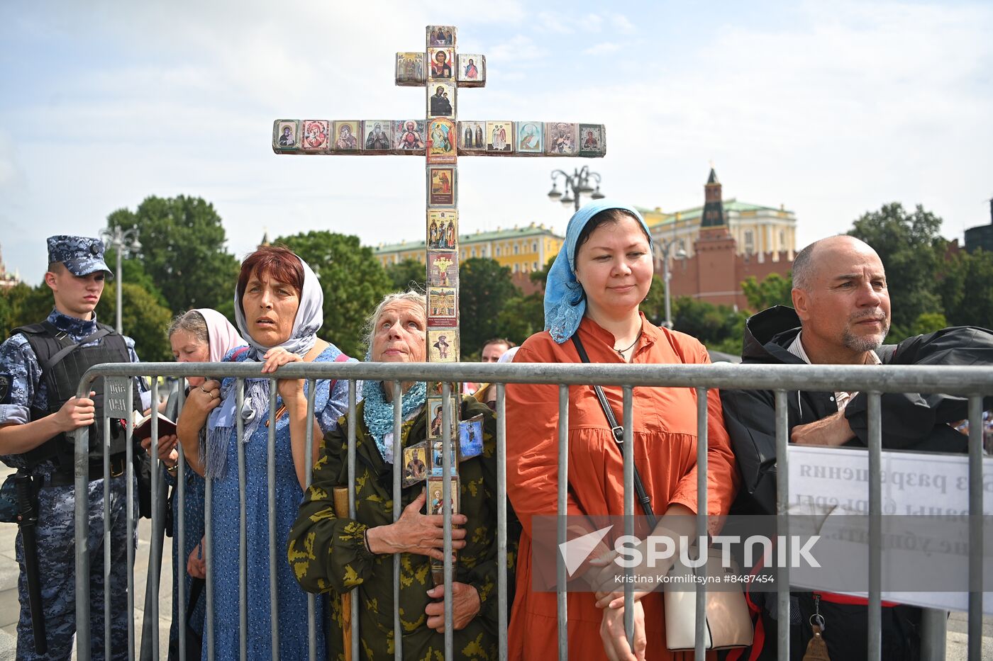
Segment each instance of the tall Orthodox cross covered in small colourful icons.
M487 59L457 53L454 26L428 26L426 33L424 52L396 54L396 84L426 90L425 119L277 119L272 126L272 150L277 154L426 157L426 355L429 362L457 362L458 156L600 158L607 152L606 134L602 124L458 121L458 90L486 84ZM460 387L451 384L448 388L452 393L449 407L444 405L444 390L441 383L428 384L429 466L433 465L434 442L442 438L441 421L451 420L452 431L458 430ZM449 411L443 415L446 408ZM451 438L458 437L452 434ZM446 482L445 500L448 491ZM428 505L432 506L430 495Z

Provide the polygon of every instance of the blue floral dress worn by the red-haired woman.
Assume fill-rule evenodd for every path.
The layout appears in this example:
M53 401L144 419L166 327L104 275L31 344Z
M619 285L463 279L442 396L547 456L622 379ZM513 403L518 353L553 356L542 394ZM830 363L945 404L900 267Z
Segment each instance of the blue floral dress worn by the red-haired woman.
M232 352L224 356L230 359ZM334 344L328 346L314 362L334 362L341 351ZM237 362L246 358L242 353ZM354 359L352 359L354 360ZM233 383L224 379L221 388ZM315 417L323 432L337 428L338 419L348 410L349 384L342 380L318 380L314 401ZM305 388L307 382L305 381ZM277 409L282 400L277 398ZM218 661L238 658L238 641L242 635L247 641L248 659L272 657L270 636L269 593L269 516L266 478L266 457L269 429L266 422L269 410L260 413L261 420L244 444L245 455L245 520L247 540L247 595L248 631L238 631L238 469L236 432L226 444L226 470L222 477L213 479L211 513L213 516L213 575L208 577L213 586L213 636L214 658ZM247 432L246 425L246 432ZM315 438L315 444L321 439ZM297 517L303 500L303 488L297 480L296 467L290 447L289 417L282 415L276 423L276 590L278 598L279 655L282 659L308 658L307 594L300 589L286 559L290 527ZM326 658L324 623L328 620L327 597L317 596L315 622L317 658ZM204 658L207 658L208 639L204 632Z

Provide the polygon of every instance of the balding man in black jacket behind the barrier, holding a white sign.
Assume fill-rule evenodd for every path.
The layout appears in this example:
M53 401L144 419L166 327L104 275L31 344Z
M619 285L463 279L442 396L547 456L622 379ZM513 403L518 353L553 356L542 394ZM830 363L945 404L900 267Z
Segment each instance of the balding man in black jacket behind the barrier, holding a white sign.
M812 243L797 253L792 274L794 308L777 306L748 320L743 362L945 365L993 362L993 332L985 329L949 328L911 337L895 346L883 346L890 328L886 272L876 251L854 237L832 236ZM772 391L722 389L721 400L725 424L743 477L735 509L743 514L775 514L774 394ZM868 414L864 395L844 391L796 391L788 394L786 402L791 443L867 445ZM949 423L964 419L967 408L967 401L961 397L884 394L881 401L883 447L919 452L965 452L967 437L952 429ZM775 598L768 601L775 607ZM791 599L790 658L799 659L803 654L811 637L807 622L815 607L826 620L824 640L830 657L865 658L865 605L853 603L850 597L810 594L794 594ZM763 617L766 631L773 634L775 619L766 610ZM883 608L883 658L918 658L919 623L919 609L886 605ZM775 635L769 635L760 658L775 658L775 654Z

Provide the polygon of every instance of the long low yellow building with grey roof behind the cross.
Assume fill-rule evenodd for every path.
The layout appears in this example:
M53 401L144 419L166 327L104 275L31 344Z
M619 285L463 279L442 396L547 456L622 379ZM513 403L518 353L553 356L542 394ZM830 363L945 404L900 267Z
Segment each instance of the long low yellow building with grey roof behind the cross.
M551 229L533 222L523 227L514 225L510 229L497 227L496 231L491 232L460 234L459 261L489 257L509 268L511 273L531 273L543 269L545 263L558 253L563 241L563 237ZM401 241L379 244L372 252L386 267L405 259L424 263L426 250L424 241Z

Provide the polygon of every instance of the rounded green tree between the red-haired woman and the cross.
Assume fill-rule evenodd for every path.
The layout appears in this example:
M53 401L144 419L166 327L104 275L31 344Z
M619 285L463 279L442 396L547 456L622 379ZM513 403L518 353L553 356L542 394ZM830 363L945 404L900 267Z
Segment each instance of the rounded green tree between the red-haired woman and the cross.
M391 283L357 236L311 231L276 239L310 264L324 289L324 326L318 334L351 356L361 358L367 348L362 326ZM234 279L228 287L233 290Z

